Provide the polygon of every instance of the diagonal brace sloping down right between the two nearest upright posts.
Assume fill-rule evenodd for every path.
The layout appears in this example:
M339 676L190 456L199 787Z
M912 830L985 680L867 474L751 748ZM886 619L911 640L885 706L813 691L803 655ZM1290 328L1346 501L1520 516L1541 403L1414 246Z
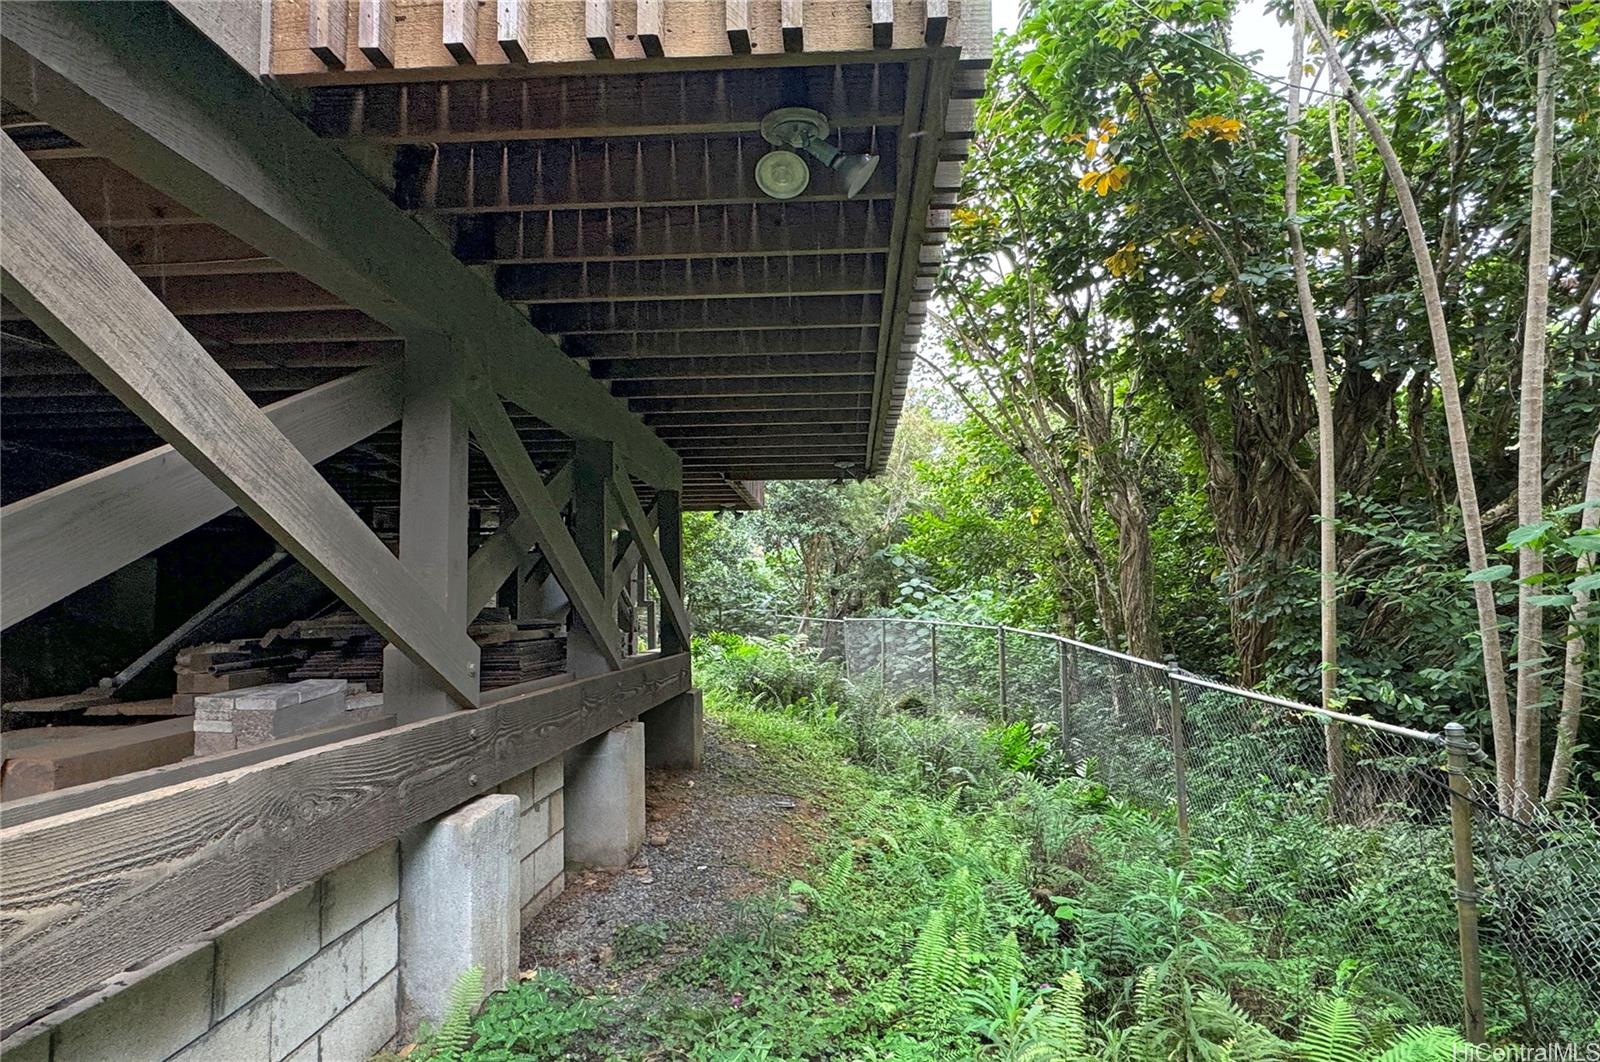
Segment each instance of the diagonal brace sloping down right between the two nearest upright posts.
M517 437L517 429L506 416L506 408L486 385L480 384L474 389L469 384L467 387L464 393L458 395L458 401L462 403L478 449L483 451L494 473L501 478L501 485L517 505L517 513L533 520L534 542L571 600L578 617L590 630L603 630L600 621L605 617L605 593L595 577L589 574L573 536L566 533L562 510L544 488L544 480L533 467L528 451ZM621 657L616 646L610 641L600 641L597 648L608 665L618 665Z

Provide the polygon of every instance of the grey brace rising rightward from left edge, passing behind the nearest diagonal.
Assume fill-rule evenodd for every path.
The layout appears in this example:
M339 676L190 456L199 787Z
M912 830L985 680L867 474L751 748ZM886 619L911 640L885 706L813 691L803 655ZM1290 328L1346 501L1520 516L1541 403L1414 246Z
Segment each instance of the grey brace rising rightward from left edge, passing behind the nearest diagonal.
M354 373L262 413L315 464L400 417L400 371ZM0 509L0 624L27 619L232 507L171 446L11 502Z

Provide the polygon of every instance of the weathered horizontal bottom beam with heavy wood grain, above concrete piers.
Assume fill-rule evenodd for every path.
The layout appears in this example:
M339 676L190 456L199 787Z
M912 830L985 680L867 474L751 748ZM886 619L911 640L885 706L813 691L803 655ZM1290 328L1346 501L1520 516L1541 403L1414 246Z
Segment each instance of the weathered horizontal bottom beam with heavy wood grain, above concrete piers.
M0 1035L688 688L654 657L5 827Z

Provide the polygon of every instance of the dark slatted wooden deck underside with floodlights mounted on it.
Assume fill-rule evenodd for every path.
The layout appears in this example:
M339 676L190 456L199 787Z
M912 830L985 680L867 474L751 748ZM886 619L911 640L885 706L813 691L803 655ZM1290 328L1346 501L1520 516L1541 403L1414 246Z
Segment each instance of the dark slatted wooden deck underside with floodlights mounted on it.
M344 8L344 69L309 46L318 6ZM469 3L467 64L443 45L451 5L416 2L376 5L394 19L394 69L379 69L358 46L368 6L275 3L270 74L318 136L682 456L685 507L744 509L752 480L880 467L982 86L981 50L930 45L946 27L931 27L922 3L891 5L894 46L874 48L866 5L813 0L794 51L781 35L789 3L747 14L674 3L664 54L648 58L637 19L650 5L640 14L618 2L603 5L618 58L602 61L574 37L584 3L534 3L533 62L514 64L494 37L496 5ZM734 24L750 27L747 53L734 53ZM779 106L822 110L840 147L882 157L861 195L846 200L821 166L790 202L755 187L768 149L758 125ZM14 101L3 123L258 403L398 363L392 328L114 158ZM37 472L8 483L6 502L158 445L14 307L0 313L5 445ZM570 457L566 433L507 413L542 472ZM384 429L322 470L349 502L392 505L398 446L398 425ZM650 485L638 489L648 502ZM470 494L498 507L498 478L477 453Z

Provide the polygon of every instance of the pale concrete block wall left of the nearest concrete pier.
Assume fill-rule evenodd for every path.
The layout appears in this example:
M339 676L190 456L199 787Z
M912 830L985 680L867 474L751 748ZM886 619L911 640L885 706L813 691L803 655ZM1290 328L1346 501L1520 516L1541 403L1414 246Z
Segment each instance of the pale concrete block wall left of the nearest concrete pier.
M219 931L6 1062L363 1062L397 1033L398 844Z

